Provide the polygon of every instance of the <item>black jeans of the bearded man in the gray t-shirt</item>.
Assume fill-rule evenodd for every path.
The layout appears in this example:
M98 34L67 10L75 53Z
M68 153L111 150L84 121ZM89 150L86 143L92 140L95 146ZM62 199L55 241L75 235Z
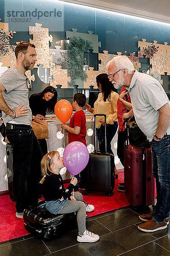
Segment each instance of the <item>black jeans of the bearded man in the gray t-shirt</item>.
M23 212L28 205L36 205L38 201L37 185L41 177L42 152L30 125L8 123L6 137L12 145L16 209L17 212Z

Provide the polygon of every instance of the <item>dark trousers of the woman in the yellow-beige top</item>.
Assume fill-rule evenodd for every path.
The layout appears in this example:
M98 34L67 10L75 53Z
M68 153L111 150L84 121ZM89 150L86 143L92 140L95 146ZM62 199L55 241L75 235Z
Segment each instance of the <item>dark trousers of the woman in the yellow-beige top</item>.
M107 152L113 154L111 149L111 141L116 134L118 128L118 122L115 121L113 125L106 125L106 140L107 140ZM99 151L105 152L105 126L101 125L100 128L97 128L97 137L99 140ZM114 154L113 154L114 156Z

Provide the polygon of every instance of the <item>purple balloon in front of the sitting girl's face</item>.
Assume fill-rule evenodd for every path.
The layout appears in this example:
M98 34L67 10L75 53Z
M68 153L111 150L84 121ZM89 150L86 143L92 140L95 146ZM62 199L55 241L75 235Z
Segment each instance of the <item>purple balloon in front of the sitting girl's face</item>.
M65 147L63 160L68 172L71 175L77 175L88 164L88 149L82 142L71 142Z

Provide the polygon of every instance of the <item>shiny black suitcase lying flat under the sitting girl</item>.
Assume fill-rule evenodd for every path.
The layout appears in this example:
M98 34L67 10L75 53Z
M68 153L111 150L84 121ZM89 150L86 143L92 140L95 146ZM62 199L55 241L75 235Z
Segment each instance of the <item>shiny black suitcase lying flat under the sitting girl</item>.
M64 230L68 231L68 228L74 228L77 225L77 214L52 214L45 208L45 201L42 201L38 207L25 209L23 220L28 232L40 238L50 239Z

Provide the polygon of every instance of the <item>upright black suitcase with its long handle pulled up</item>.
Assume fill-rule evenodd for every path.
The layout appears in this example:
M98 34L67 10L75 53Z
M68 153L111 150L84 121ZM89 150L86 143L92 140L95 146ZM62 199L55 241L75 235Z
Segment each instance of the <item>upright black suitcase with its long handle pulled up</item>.
M106 115L95 114L94 115L94 153L89 154L89 161L85 169L83 170L82 179L86 177L85 192L87 195L88 191L104 191L107 195L113 195L113 189L115 186L114 179L114 156L105 152L96 151L96 116L105 117L105 152L107 149L106 145Z

